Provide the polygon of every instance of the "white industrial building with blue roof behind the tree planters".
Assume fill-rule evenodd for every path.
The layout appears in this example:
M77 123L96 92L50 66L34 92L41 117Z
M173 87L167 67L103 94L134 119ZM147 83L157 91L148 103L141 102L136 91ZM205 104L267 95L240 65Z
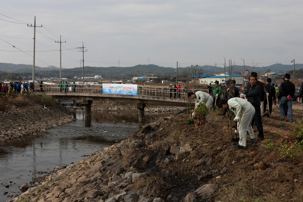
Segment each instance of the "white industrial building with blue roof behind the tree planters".
M242 85L243 84L243 76L239 74L229 74L229 73L220 73L215 76L210 76L206 78L199 79L199 82L201 84L213 84L215 81L218 81L219 83L222 83L225 80L232 79L236 81L236 85Z

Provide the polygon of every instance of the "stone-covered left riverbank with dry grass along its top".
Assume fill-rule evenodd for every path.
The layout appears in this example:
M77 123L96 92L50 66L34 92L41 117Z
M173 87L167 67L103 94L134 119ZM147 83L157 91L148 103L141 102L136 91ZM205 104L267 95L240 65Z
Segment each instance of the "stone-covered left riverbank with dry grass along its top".
M73 120L71 111L49 96L1 97L0 103L3 103L0 109L0 143L37 136L45 129Z

